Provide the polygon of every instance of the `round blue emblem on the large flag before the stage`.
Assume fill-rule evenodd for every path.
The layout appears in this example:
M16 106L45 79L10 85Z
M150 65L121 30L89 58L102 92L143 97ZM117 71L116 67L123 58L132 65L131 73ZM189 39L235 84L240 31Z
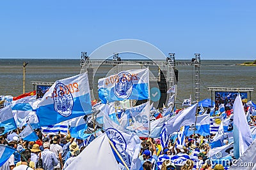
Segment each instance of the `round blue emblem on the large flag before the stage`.
M115 96L120 99L127 99L132 94L132 75L128 72L121 72L116 76Z

